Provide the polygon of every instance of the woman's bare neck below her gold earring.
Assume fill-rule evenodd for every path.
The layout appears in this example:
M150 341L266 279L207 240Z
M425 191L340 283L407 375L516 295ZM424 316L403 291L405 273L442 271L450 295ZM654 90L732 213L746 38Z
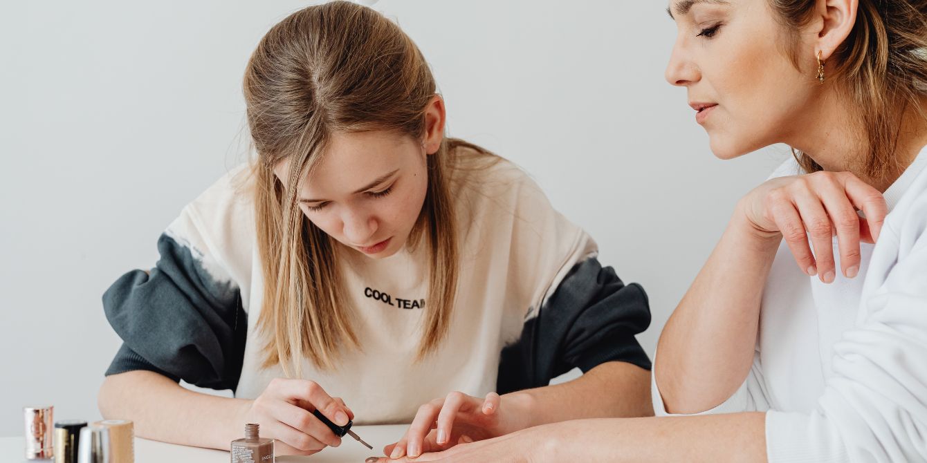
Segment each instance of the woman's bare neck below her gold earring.
M856 109L834 95L822 97L816 106L819 109L810 123L801 124L785 143L811 156L825 170L852 172L880 192L888 189L927 145L927 119L921 116L918 107L908 107L898 131L895 166L883 177L873 178L866 169L869 153L865 131L850 116ZM927 98L921 100L920 110L927 113Z

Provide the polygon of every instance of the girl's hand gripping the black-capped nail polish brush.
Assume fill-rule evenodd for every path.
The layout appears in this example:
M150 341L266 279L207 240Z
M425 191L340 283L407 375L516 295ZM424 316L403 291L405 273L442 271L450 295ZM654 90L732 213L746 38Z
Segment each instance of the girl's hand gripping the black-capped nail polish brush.
M341 438L312 416L316 409L338 426L354 419L344 401L317 383L275 378L258 398L246 401L236 417L238 433L245 423L260 424L260 437L276 439L275 455L312 455L329 445L337 447Z

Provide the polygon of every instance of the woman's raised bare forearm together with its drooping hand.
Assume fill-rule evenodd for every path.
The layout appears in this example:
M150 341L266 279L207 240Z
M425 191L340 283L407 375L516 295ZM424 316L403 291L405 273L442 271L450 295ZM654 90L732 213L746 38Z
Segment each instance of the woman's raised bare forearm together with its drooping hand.
M836 234L841 270L853 278L860 241L875 241L886 214L882 194L848 172L780 177L745 195L660 336L654 378L667 411L708 410L743 383L763 290L783 238L799 269L830 283L838 271Z

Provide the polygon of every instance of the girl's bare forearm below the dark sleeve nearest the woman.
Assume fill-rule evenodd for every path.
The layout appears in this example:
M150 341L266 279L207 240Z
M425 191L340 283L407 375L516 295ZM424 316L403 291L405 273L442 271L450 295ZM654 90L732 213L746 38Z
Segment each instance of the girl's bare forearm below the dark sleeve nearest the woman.
M506 403L530 416L528 426L566 419L646 417L650 372L626 362L606 362L571 382L502 395Z

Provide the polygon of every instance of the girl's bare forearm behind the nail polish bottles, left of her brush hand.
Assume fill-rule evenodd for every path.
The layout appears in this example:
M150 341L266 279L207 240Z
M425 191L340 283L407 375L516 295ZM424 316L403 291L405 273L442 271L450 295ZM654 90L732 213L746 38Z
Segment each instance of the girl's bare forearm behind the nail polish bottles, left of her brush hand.
M242 437L244 423L236 421L248 403L195 393L145 370L108 376L98 397L104 418L133 420L139 437L223 450Z

